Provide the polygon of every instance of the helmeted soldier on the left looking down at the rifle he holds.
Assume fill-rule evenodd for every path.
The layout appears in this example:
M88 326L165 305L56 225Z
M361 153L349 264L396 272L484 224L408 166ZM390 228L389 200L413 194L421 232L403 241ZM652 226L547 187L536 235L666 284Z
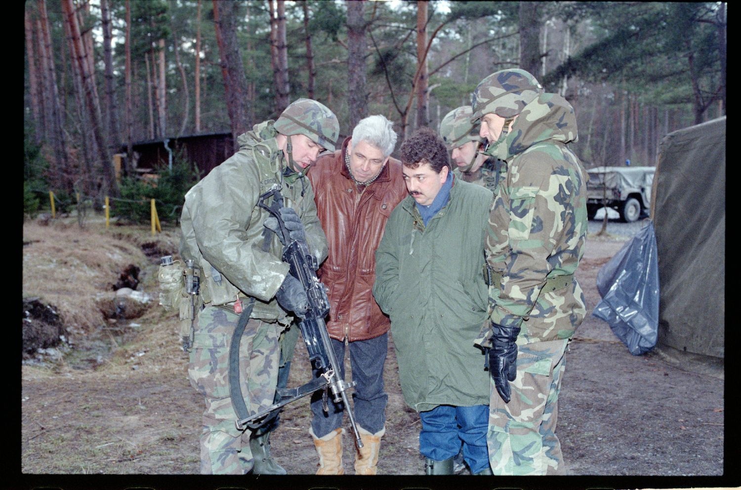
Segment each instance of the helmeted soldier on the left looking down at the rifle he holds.
M278 380L279 335L292 315L308 308L301 283L288 274L283 245L270 231L277 221L257 206L260 195L280 189L282 218L293 240L303 240L321 263L327 239L308 178L322 150L334 150L336 116L310 99L290 104L276 121L256 124L237 138L239 151L211 170L185 195L180 253L201 266L205 308L199 313L188 377L205 399L202 474L285 474L270 459L267 440L239 430L230 398L229 349L242 310L250 319L239 340L239 386L247 409L273 403ZM268 229L270 228L270 229ZM269 433L268 433L269 434ZM253 457L253 452L259 456ZM262 467L253 461L259 457ZM253 465L255 466L253 469Z

